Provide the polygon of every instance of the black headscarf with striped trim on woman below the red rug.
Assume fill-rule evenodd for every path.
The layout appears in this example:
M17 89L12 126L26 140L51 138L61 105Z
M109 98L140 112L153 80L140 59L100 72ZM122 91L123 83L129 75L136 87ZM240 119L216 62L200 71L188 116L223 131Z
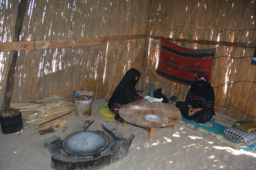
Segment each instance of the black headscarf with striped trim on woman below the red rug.
M199 80L204 77L206 81ZM187 97L186 104L200 108L208 108L214 113L215 95L211 84L208 81L207 74L201 72L197 75L196 81L191 85Z

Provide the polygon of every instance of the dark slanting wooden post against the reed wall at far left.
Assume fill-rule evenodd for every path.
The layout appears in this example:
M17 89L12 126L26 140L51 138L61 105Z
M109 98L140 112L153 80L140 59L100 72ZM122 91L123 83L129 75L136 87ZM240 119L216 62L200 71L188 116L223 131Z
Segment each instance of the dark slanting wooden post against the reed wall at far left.
M23 19L26 13L26 7L27 7L27 0L21 0L19 4L19 14L18 18L15 24L15 40L14 41L20 41L20 32L22 29L22 23ZM5 92L5 108L10 108L11 103L11 97L13 92L13 83L14 83L14 71L16 66L16 61L18 57L18 52L14 52L12 56L12 63L8 72L7 77L7 87Z

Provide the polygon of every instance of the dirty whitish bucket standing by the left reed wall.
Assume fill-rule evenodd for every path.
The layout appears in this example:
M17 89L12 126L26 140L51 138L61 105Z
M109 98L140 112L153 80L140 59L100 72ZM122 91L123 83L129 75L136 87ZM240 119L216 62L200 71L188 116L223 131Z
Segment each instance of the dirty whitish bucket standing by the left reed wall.
M86 95L83 95L86 96ZM76 108L76 116L80 118L92 115L92 96L86 96L88 100L74 100Z

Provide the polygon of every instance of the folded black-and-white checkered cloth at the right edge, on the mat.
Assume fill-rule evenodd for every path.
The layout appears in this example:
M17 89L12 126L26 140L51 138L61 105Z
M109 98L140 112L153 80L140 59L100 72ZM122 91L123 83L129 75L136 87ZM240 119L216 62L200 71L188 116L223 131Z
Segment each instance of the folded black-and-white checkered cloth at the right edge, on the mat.
M226 137L232 142L250 142L256 139L256 130L252 132L245 132L237 128L225 129Z

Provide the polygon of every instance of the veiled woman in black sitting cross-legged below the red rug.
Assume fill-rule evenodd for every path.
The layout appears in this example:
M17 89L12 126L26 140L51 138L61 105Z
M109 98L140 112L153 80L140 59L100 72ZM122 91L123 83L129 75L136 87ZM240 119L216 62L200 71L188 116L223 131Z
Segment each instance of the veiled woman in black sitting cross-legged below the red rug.
M211 120L214 113L215 95L207 74L201 72L191 85L186 100L177 101L176 107L180 109L183 117L196 123L206 123Z

